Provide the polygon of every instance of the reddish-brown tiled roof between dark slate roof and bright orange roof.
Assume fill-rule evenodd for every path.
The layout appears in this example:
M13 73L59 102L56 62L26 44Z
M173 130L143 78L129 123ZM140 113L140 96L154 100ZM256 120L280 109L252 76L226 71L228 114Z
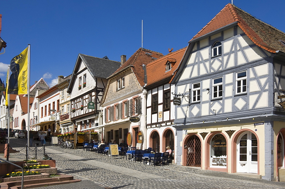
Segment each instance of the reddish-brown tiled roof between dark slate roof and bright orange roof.
M120 68L114 72L114 74L112 74L112 76L131 66L131 69L133 70L139 84L144 86L143 64L147 65L160 57L163 57L162 53L139 48Z

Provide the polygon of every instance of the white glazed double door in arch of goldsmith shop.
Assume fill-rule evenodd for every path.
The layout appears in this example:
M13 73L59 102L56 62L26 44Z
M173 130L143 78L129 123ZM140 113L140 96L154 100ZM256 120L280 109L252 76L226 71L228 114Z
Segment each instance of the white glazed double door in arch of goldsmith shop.
M257 173L257 137L250 131L241 133L237 139L237 172Z

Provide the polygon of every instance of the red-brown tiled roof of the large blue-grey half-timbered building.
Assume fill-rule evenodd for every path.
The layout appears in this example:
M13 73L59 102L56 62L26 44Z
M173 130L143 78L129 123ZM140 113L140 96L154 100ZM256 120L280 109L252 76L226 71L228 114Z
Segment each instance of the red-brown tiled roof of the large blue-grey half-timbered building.
M189 42L237 22L245 34L262 49L271 53L278 50L285 52L285 46L279 40L285 41L285 34L273 26L258 20L251 14L235 5L227 4L205 27L202 28Z

